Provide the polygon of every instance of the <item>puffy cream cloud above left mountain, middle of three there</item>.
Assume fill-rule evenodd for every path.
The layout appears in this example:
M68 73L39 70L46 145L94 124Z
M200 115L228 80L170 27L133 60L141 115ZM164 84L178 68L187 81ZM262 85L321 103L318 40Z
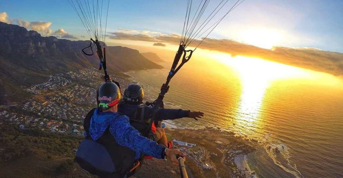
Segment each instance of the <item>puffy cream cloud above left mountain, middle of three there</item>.
M51 22L28 22L19 18L17 23L22 27L38 31L43 36L50 36L52 34L52 29L49 28L52 24Z

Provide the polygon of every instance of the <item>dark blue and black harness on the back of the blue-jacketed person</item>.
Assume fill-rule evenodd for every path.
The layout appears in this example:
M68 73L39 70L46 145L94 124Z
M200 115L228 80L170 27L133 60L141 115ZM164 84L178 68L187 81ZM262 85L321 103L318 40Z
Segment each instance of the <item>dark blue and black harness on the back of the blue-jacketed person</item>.
M128 147L119 145L113 135L109 131L109 127L106 129L104 134L96 141L94 141L89 132L89 127L91 123L92 115L95 111L95 108L92 109L84 120L84 128L86 131L86 138L81 142L78 152L76 152L75 161L82 167L84 170L88 171L93 175L98 175L100 177L130 177L137 170L139 170L141 163L140 161L134 161L135 152ZM82 149L80 149L83 147ZM80 153L79 150L87 150L83 153ZM102 170L99 170L94 165L90 164L85 158L84 154L87 154L87 157L92 157L89 155L92 153L97 157L98 164L102 167ZM109 171L109 167L112 166Z

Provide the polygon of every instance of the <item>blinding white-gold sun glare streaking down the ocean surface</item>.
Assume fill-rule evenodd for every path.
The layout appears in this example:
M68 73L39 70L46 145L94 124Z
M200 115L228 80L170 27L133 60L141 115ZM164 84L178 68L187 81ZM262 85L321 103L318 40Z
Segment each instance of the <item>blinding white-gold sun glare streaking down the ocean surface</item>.
M292 84L322 81L323 85L342 85L341 79L334 79L330 74L314 72L307 69L281 63L265 61L246 56L231 57L225 53L215 54L215 59L231 66L238 74L241 94L232 123L244 135L254 136L263 128L263 105L268 97L266 90L275 89L275 81ZM271 87L273 86L273 87ZM268 92L273 92L268 90ZM282 101L280 101L282 102ZM257 136L257 135L256 135Z

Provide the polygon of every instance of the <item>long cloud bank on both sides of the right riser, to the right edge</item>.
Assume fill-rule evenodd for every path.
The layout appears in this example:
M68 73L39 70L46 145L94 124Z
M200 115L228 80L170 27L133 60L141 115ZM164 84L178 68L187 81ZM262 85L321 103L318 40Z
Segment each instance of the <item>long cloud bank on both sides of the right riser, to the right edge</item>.
M117 40L149 41L157 43L180 43L180 36L176 34L139 34L139 30L109 33L109 38ZM195 47L201 39L194 41L189 47ZM154 44L154 45L155 45ZM156 45L155 45L156 46ZM316 48L288 48L274 47L272 50L259 48L230 39L206 38L199 46L202 49L229 53L233 56L243 55L262 58L287 65L326 72L333 75L343 75L343 53L322 51Z

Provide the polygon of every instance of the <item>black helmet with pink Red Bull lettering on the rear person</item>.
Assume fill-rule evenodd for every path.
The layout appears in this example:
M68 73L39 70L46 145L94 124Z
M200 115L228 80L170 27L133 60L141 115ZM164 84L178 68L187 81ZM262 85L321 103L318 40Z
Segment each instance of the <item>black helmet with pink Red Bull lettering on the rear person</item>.
M96 92L96 101L100 111L108 110L110 107L118 104L120 99L120 89L111 81L101 84Z

